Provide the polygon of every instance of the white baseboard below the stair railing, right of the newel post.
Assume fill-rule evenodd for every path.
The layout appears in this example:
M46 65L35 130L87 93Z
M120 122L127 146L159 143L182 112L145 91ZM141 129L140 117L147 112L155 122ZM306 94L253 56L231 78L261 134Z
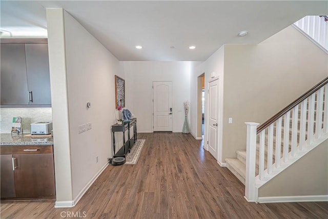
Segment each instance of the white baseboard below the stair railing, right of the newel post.
M299 195L299 196L258 197L257 202L258 203L328 202L328 195Z

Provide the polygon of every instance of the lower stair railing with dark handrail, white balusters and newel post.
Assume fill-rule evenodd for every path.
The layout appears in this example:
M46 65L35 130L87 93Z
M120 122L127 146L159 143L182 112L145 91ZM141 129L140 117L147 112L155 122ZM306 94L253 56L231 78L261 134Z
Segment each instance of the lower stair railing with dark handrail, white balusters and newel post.
M249 202L257 201L256 185L268 181L277 174L277 171L282 171L287 164L295 162L296 157L300 157L305 151L312 149L313 145L327 138L327 110L328 77L260 126L258 123L245 123L247 125L245 198ZM257 140L259 140L258 144ZM266 163L265 158L267 158ZM258 167L256 167L257 159Z

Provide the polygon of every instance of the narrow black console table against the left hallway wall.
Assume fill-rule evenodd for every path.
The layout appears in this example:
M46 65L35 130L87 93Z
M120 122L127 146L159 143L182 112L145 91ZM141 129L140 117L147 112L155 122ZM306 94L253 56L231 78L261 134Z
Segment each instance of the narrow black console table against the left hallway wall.
M130 137L130 129L133 127L133 136ZM126 142L125 132L128 131L128 141ZM112 125L113 132L113 157L125 157L130 153L131 148L137 141L137 118L131 118L130 121L122 122L121 125ZM123 133L123 147L115 153L115 132Z

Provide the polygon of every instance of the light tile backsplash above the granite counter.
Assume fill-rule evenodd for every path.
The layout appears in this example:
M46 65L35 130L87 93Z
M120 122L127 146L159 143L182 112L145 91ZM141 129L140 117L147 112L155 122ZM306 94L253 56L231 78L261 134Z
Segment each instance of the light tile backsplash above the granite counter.
M12 118L23 118L23 132L31 132L31 123L51 122L51 107L46 108L0 108L0 133L11 133Z

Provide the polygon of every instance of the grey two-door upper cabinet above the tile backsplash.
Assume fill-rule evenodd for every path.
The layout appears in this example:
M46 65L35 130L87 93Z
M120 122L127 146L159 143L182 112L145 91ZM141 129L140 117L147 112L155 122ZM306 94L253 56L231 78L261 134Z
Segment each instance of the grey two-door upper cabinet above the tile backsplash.
M47 43L1 44L1 107L50 107Z

